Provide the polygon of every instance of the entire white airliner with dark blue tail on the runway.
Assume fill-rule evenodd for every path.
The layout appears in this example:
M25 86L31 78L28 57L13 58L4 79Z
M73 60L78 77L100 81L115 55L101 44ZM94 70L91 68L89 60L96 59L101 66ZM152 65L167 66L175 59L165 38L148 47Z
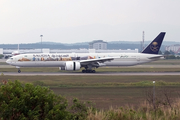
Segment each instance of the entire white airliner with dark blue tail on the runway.
M133 66L164 59L158 55L165 32L161 32L141 53L40 53L20 54L9 58L6 63L20 67L59 67L60 70L82 70L95 73L93 68L101 66Z

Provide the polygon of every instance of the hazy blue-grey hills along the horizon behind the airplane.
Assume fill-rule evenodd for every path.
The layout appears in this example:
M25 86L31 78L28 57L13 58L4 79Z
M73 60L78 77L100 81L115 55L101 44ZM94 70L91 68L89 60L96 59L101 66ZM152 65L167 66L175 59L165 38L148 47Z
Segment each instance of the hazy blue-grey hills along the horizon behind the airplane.
M147 46L151 41L145 41ZM161 51L165 51L165 46L180 44L180 42L171 42L164 41L161 47ZM20 49L40 49L49 48L49 49L80 49L80 48L89 48L89 42L82 43L57 43L57 42L42 42L41 43L30 43L30 44L19 44ZM17 49L17 44L0 44L0 48L3 49ZM139 49L141 51L141 44L138 41L111 41L108 42L108 49Z

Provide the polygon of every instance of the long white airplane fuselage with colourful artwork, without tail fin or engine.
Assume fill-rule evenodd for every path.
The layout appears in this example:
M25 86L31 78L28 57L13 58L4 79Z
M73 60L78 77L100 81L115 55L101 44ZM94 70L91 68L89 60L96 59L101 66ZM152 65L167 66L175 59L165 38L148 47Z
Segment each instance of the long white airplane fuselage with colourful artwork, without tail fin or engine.
M113 60L104 62L102 66L132 66L163 59L162 55L143 53L42 53L13 56L7 60L7 63L18 67L65 67L67 61L80 62L82 60L106 57L111 57ZM151 59L152 57L155 59Z

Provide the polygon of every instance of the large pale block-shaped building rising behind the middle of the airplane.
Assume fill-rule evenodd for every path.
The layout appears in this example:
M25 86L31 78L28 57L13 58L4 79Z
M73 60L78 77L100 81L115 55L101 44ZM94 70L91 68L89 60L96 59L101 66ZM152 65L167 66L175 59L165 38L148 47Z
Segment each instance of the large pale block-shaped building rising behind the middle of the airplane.
M103 40L94 40L89 43L89 49L107 50L107 42Z

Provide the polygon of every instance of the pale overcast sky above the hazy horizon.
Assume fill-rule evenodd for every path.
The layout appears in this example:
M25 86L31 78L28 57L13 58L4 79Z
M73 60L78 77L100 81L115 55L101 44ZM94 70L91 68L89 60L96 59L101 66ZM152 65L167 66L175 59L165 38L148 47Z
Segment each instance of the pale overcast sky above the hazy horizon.
M180 41L180 0L0 0L0 44Z

